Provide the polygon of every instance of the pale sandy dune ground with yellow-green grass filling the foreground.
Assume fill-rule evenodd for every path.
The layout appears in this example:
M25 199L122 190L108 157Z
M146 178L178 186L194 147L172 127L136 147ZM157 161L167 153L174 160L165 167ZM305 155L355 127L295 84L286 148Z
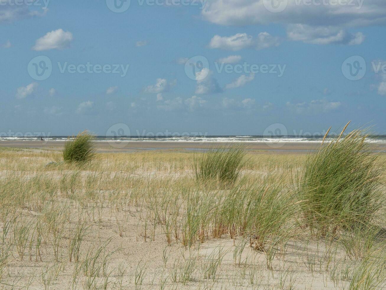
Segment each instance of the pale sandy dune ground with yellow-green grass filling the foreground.
M196 177L192 164L204 160L201 152L95 153L98 162L87 166L47 167L61 152L2 150L0 283L5 289L383 287L379 164L386 157L369 152L359 136L342 135L310 155L238 148L237 178L223 181L218 173ZM347 163L340 168L334 160ZM315 177L321 170L322 181ZM336 186L315 187L327 181ZM361 195L337 190L346 187ZM320 192L337 195L327 203L334 210L316 206Z

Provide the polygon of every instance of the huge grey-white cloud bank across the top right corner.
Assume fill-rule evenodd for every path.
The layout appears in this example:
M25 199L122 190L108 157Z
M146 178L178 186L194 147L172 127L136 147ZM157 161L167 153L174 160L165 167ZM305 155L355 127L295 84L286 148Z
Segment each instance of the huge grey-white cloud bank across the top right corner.
M269 11L269 3L270 0L212 0L201 14L204 19L222 25L281 24L288 28L289 39L315 44L361 44L364 35L349 33L347 29L386 23L383 0L345 2L346 5L288 0L280 13ZM304 31L297 26L304 27Z

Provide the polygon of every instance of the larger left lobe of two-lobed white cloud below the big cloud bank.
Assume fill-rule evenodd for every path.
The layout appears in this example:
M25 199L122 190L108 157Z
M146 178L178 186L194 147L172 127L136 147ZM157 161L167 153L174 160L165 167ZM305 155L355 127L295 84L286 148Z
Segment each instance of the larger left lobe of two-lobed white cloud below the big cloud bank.
M251 47L252 43L252 36L247 35L246 33L237 33L229 37L215 35L210 40L209 47L237 51Z

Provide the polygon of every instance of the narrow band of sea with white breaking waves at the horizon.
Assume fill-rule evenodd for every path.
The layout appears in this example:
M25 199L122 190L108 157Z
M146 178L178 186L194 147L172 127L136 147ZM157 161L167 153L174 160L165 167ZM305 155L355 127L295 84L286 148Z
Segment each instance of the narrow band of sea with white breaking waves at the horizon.
M65 141L67 136L43 137L46 141ZM40 136L0 136L1 141L34 141L40 140ZM97 136L96 142L245 142L245 143L321 143L323 136L250 136L250 135L227 135L227 136ZM326 138L325 142L332 140ZM386 143L386 135L369 136L367 142Z

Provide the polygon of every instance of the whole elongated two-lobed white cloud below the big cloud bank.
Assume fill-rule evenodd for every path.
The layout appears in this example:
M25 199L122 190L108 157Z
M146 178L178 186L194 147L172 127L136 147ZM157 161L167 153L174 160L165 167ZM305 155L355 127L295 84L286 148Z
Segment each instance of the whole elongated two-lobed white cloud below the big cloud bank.
M278 46L280 43L280 38L268 32L260 32L256 38L246 33L237 33L232 36L215 35L210 40L209 47L237 51L244 48L264 49Z

